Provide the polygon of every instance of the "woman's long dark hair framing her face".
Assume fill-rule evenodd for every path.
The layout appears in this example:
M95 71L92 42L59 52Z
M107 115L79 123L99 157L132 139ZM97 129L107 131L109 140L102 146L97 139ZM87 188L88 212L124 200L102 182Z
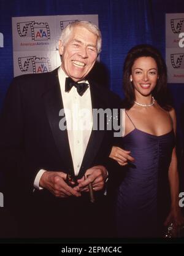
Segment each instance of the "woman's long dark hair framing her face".
M135 47L131 48L131 50L129 50L128 55L126 56L123 66L123 89L125 92L125 108L130 109L134 105L135 101L134 86L130 80L132 66L137 58L144 56L151 57L156 61L156 64L158 66L159 79L152 94L158 102L159 106L169 111L171 109L171 103L169 102L169 98L167 97L168 91L166 63L163 60L163 57L161 56L159 50L149 44L136 45Z

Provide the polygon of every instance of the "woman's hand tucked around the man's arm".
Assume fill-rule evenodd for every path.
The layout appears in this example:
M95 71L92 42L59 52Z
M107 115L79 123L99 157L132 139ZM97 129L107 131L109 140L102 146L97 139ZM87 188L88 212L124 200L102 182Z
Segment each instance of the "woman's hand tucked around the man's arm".
M134 161L134 158L129 155L130 153L130 151L113 146L109 157L117 161L119 165L125 166L128 164L128 161Z

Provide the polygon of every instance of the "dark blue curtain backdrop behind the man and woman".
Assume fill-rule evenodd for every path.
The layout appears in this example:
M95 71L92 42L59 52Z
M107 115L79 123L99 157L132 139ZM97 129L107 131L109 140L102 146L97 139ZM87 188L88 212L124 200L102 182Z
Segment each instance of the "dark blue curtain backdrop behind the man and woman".
M0 109L13 78L12 17L36 15L98 14L102 31L101 63L105 82L123 98L122 66L128 50L142 43L153 44L165 58L166 13L184 13L183 0L0 0ZM102 77L102 76L101 76ZM102 77L103 78L103 77ZM108 78L108 79L107 79ZM177 111L179 148L183 147L184 84L169 84ZM180 157L182 160L182 157Z

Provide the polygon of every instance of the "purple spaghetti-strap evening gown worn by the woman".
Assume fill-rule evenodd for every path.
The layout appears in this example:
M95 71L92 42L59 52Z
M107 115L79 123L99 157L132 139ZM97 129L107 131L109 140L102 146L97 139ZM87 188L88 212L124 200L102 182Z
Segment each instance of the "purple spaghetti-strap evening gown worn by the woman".
M125 178L116 201L118 237L162 236L171 201L168 169L174 131L155 136L134 126L131 133L117 140L118 146L130 150L135 158L134 163L122 168Z

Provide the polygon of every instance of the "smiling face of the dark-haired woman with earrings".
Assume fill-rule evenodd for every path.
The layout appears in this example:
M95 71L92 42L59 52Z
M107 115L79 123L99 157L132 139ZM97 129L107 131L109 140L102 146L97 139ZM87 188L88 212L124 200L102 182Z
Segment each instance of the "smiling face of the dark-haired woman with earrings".
M134 61L130 79L134 85L135 96L148 96L156 86L158 67L151 57L140 57Z

